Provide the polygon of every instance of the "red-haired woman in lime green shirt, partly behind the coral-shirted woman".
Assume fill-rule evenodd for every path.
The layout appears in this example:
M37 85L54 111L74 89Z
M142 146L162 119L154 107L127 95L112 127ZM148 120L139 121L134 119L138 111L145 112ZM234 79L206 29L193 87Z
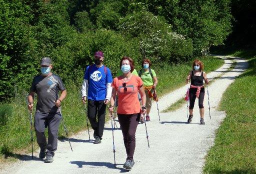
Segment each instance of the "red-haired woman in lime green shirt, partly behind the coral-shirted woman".
M153 69L150 68L151 61L148 58L144 58L142 63L142 69L139 70L138 76L143 81L143 87L146 94L146 121L150 121L149 112L151 108L151 97L153 96L153 88L157 85L156 74ZM143 123L143 119L140 119L140 122Z

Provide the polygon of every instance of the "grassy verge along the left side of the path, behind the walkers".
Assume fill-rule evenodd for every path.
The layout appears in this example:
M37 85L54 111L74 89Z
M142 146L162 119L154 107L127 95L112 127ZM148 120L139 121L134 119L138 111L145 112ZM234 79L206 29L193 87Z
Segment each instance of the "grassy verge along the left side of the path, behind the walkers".
M206 71L211 71L221 66L223 61L215 57L201 58L206 66ZM159 85L158 95L161 96L184 84L184 79L191 69L191 62L177 65L155 66ZM67 97L61 103L62 115L69 134L74 134L80 130L87 129L84 106L80 98L80 86L69 84L67 87ZM20 157L20 153L30 152L30 130L28 111L26 107L26 92L17 94L10 103L0 105L0 163L12 161ZM34 111L33 111L34 114ZM106 120L108 116L106 116ZM38 148L34 135L34 149ZM63 125L60 124L59 137L65 137ZM92 136L92 135L91 135ZM8 156L8 159L4 158Z

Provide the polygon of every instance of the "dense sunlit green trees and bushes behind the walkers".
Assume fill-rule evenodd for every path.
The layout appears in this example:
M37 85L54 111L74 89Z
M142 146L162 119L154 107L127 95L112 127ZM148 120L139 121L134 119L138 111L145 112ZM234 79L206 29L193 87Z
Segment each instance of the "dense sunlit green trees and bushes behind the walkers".
M78 84L93 52L115 74L123 55L138 64L181 62L223 42L230 0L0 0L0 100L28 90L42 56Z

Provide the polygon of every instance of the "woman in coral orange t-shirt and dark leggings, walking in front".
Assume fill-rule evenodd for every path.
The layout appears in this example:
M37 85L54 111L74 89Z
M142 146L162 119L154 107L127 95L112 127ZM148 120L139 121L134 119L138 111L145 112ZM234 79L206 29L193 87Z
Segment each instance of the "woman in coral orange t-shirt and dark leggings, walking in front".
M117 116L122 130L124 146L127 153L123 167L130 170L134 165L133 153L135 149L135 132L140 118L140 113L145 114L146 97L143 82L140 77L131 74L134 69L130 57L122 57L120 61L122 75L115 77L112 82L112 96L110 98L110 113L113 112L116 92L118 94ZM137 92L141 95L142 107L138 101Z

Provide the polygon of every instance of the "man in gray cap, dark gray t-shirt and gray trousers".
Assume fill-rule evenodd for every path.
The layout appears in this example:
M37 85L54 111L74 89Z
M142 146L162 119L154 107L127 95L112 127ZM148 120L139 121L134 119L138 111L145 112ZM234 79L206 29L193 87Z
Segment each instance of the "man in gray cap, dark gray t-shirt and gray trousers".
M66 89L60 77L50 72L51 59L43 57L40 62L41 73L33 79L28 95L28 109L32 111L34 93L37 93L37 103L34 115L36 141L40 147L40 158L52 162L54 151L57 149L57 134L61 120L60 104L66 97ZM58 92L60 96L58 97ZM48 126L48 142L44 130Z

